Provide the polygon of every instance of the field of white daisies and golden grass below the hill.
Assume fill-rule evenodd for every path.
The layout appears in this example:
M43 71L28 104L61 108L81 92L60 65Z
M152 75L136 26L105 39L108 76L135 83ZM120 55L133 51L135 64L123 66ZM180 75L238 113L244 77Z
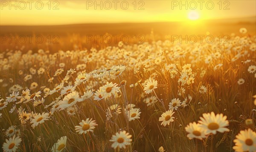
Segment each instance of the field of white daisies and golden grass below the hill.
M256 36L216 39L1 50L0 151L256 152Z

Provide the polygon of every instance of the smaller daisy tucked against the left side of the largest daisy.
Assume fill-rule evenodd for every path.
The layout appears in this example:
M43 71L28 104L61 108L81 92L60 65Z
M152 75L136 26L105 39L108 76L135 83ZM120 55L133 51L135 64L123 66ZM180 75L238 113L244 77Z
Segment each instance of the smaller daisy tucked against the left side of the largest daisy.
M205 130L201 127L199 127L199 123L189 123L186 127L185 127L186 132L188 132L189 134L187 135L187 137L189 139L193 139L193 138L198 138L198 139L203 139L206 138L205 135Z

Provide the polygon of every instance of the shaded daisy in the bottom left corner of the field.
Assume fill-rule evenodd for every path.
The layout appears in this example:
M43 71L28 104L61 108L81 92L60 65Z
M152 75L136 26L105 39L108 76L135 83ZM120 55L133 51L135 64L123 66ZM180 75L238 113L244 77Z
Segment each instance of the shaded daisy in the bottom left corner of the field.
M4 152L16 152L18 146L20 145L21 138L19 136L6 139L6 142L3 143L3 151Z

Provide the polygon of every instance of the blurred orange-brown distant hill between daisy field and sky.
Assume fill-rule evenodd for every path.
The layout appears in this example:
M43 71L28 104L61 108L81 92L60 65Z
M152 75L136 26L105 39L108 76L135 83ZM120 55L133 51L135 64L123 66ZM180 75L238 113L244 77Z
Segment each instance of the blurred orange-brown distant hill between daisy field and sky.
M241 27L255 33L256 17L204 20L190 25L184 22L157 23L88 23L59 26L0 26L1 34L204 34L239 32Z

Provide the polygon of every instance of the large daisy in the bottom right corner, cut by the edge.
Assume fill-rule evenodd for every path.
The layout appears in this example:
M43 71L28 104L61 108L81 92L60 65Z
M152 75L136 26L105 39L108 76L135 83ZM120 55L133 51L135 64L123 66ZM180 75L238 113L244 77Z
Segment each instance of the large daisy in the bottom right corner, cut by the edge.
M234 140L233 149L236 152L256 152L256 132L246 129L241 130Z

